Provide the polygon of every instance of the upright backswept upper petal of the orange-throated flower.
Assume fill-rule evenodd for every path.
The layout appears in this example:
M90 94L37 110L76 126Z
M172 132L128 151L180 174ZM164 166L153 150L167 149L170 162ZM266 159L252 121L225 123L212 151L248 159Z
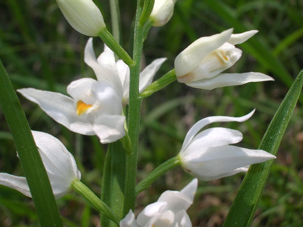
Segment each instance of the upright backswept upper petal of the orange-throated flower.
M105 55L108 55L106 52ZM103 59L103 58L102 58ZM112 66L106 59L104 62L99 62L93 51L92 38L89 38L84 49L84 62L89 65L98 80L106 81L114 87L117 94L122 97L122 84L118 76L116 65Z

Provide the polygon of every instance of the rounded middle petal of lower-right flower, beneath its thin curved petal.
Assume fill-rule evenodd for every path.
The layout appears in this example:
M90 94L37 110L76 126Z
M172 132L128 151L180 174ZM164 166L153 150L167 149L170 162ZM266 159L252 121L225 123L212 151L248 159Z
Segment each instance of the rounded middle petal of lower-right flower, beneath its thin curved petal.
M208 128L197 133L191 140L190 144L182 152L182 156L199 155L198 150L201 147L216 147L239 143L243 139L243 135L238 130L229 128Z

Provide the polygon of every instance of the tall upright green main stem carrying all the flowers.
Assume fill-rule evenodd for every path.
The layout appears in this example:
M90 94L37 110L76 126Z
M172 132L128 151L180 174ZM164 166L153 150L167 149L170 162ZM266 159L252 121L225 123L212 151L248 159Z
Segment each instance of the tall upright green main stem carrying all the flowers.
M134 210L136 200L135 186L141 109L141 100L139 99L139 75L141 52L143 47L143 27L139 24L139 18L142 12L142 5L142 0L138 0L134 29L134 65L130 66L128 132L132 144L132 152L127 153L126 156L126 178L124 191L125 200L123 216L125 216L130 209Z

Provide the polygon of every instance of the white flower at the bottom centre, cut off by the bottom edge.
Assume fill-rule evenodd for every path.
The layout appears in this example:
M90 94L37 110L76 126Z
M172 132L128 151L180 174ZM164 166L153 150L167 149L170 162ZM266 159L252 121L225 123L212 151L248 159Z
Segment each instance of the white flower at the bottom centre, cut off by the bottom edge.
M120 227L191 227L186 210L193 202L197 185L197 179L193 179L180 192L165 191L157 202L146 206L137 219L130 210L120 221Z

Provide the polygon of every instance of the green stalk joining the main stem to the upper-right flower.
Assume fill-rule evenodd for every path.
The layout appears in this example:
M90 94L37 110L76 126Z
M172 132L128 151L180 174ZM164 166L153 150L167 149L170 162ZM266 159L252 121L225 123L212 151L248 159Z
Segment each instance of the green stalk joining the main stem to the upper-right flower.
M153 95L155 92L158 92L158 90L174 82L176 79L177 77L176 77L175 69L172 69L171 71L164 74L160 79L154 81L149 86L147 86L140 94L140 98L144 99L148 96Z

